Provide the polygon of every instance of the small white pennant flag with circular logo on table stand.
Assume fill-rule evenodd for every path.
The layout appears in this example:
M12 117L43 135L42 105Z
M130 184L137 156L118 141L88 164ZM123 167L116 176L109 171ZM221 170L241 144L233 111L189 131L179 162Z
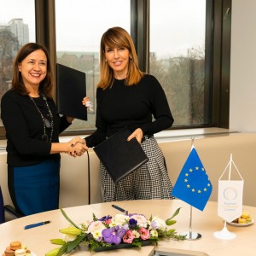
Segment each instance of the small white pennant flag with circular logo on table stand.
M218 216L231 222L241 216L243 180L218 180Z

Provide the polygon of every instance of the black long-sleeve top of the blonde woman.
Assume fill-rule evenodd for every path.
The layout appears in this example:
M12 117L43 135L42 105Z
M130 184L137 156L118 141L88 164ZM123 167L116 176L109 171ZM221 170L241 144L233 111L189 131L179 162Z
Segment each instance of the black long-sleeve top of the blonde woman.
M111 88L97 88L96 131L85 140L88 147L95 147L125 126L152 135L171 127L173 121L166 94L154 76L146 74L132 86L116 79Z

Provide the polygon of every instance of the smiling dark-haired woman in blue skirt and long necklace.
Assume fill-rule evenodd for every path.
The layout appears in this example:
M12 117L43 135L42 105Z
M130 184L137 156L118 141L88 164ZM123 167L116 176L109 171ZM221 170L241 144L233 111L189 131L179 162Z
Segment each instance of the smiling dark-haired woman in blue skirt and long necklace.
M59 207L61 152L81 155L84 145L59 143L73 118L57 113L49 53L29 43L14 61L12 88L1 101L7 137L8 184L16 210L24 215Z

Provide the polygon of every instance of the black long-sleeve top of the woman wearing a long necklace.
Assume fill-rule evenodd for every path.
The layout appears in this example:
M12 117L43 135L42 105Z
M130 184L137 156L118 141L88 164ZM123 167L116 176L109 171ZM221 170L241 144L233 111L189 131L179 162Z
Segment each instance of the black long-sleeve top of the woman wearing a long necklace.
M42 96L33 98L44 117L49 111ZM52 143L59 142L59 134L70 123L65 116L60 117L53 99L47 99L53 114ZM44 134L43 119L29 96L21 96L15 90L8 90L1 101L1 118L7 137L7 163L10 166L29 166L42 160L60 159L60 154L50 154L51 143L41 140ZM45 128L50 137L50 128Z

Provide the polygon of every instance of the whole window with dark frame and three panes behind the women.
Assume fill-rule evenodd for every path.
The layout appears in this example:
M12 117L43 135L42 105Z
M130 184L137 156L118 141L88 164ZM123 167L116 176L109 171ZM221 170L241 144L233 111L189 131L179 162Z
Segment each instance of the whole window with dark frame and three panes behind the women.
M0 4L0 99L9 89L17 49L37 38L49 49L52 64L86 74L87 95L95 109L102 33L123 26L131 32L141 69L154 74L166 91L173 129L229 128L231 21L225 13L230 0L73 0L72 4L0 0ZM68 131L94 129L93 111L87 121L75 120ZM1 120L0 137L5 138Z

